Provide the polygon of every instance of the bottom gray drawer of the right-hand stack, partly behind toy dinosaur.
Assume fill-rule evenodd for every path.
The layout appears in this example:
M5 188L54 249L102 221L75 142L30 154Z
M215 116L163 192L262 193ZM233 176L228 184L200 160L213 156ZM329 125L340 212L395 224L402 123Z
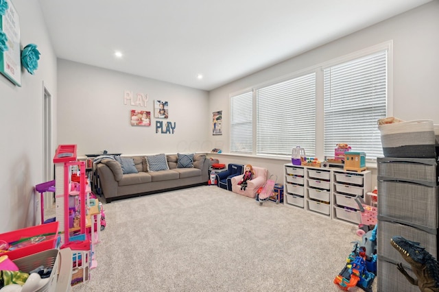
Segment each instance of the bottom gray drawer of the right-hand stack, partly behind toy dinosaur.
M389 243L390 244L390 243ZM410 267L404 266L412 278L416 278ZM377 291L379 292L419 292L418 286L410 284L396 268L395 263L378 256Z

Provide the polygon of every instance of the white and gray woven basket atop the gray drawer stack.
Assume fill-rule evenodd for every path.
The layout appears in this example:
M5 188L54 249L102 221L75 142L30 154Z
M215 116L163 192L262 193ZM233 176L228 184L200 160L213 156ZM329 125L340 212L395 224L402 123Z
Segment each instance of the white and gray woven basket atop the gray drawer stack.
M433 121L419 120L378 126L385 157L435 158Z

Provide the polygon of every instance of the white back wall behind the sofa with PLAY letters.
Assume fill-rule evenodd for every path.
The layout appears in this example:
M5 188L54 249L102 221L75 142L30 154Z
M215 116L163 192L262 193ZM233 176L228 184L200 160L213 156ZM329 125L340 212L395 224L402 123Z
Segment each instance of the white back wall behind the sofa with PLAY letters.
M147 94L147 107L125 104L125 90L134 97ZM58 144L78 145L78 156L104 149L122 154L211 149L212 113L204 90L58 60L58 97ZM154 100L169 102L168 119L153 117ZM131 110L150 111L151 126L130 125ZM156 133L156 121L175 123L174 134Z

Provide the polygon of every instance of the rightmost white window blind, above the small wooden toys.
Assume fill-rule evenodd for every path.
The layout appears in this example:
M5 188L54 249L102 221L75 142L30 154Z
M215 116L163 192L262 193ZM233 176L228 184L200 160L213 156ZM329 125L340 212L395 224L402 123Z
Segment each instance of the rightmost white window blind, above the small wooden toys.
M324 155L347 143L366 159L383 156L377 120L386 100L387 50L324 69Z

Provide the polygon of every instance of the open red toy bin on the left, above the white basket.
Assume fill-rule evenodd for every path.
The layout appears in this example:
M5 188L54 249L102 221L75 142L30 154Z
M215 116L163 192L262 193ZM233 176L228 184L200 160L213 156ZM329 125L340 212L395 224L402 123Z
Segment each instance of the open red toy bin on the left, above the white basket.
M58 221L0 234L0 241L10 245L6 252L11 260L58 247Z

